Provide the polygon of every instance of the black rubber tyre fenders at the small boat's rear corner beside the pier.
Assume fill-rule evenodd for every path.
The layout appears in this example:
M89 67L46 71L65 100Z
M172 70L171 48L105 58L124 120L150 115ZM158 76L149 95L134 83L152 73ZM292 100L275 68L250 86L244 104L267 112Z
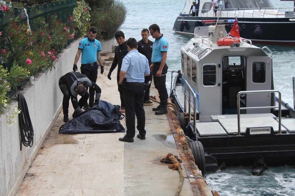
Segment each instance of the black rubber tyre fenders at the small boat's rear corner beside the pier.
M206 160L203 145L200 141L188 141L189 148L193 152L195 164L201 170L203 177L206 172Z

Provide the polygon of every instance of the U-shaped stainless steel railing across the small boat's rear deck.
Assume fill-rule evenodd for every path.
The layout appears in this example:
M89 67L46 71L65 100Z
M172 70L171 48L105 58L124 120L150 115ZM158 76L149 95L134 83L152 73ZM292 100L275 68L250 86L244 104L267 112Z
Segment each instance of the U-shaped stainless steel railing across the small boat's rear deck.
M293 78L294 81L294 78ZM294 89L294 88L293 88ZM266 106L266 107L240 107L240 95L241 94L255 94L255 93L278 93L278 106ZM281 130L281 117L282 117L282 113L281 113L281 100L282 100L282 96L281 96L281 92L279 92L278 90L262 90L262 91L240 91L237 94L237 118L238 118L238 134L237 136L241 136L241 114L240 114L240 110L241 109L272 109L272 108L278 108L278 134L282 134L282 130Z

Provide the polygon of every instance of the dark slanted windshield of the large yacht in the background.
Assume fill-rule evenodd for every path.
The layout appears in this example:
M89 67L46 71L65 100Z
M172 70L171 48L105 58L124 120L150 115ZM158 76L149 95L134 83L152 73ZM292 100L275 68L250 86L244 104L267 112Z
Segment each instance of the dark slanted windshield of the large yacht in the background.
M258 9L273 8L269 0L220 0L219 5L222 9Z

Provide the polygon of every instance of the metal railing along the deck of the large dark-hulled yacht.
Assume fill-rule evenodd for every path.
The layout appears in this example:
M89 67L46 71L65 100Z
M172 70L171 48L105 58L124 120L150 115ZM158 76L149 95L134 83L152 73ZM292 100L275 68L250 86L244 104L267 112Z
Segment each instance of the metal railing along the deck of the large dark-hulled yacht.
M220 16L219 17L228 17L228 14L232 14L234 13L234 16L230 16L230 17L245 17L245 14L252 14L252 17L256 16L262 16L262 18L264 18L266 11L267 10L277 10L277 13L275 14L275 16L278 18L279 15L284 14L285 11L291 11L293 12L293 16L292 18L295 18L295 7L266 7L266 8L241 8L241 9L217 9L218 11L220 11ZM259 10L259 13L255 13L256 10ZM201 13L204 17L204 15L208 16L208 12L209 9L199 9L198 10L199 13ZM234 11L234 12L233 12ZM250 12L251 11L251 12ZM190 16L190 14L192 13L192 10L189 12L181 12L179 13L179 16ZM222 16L222 14L226 14L226 16ZM241 15L240 15L241 14Z

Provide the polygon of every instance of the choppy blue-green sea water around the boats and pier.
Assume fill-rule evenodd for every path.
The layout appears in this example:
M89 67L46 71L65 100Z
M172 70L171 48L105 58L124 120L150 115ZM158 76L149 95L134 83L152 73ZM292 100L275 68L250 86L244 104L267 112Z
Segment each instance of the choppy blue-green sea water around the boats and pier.
M141 38L141 30L151 24L158 24L160 31L169 42L167 53L168 71L181 69L180 48L192 37L176 34L172 28L176 17L182 11L185 0L138 1L124 0L128 9L126 21L122 26L126 40ZM293 1L271 0L275 7L293 7ZM276 26L273 26L275 29ZM283 29L282 34L284 34ZM285 36L285 35L284 35ZM294 36L294 33L289 35ZM151 41L155 39L149 37ZM259 45L263 47L265 45ZM282 100L293 106L292 77L295 76L295 47L266 45L273 52L274 87L282 93ZM174 74L175 76L175 74ZM173 77L174 78L174 77ZM167 74L168 94L171 87L171 72ZM206 173L205 179L212 190L220 195L295 195L294 166L269 167L263 175L253 176L252 167L227 167L226 171Z

